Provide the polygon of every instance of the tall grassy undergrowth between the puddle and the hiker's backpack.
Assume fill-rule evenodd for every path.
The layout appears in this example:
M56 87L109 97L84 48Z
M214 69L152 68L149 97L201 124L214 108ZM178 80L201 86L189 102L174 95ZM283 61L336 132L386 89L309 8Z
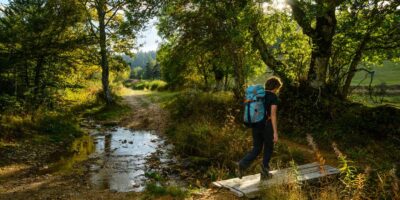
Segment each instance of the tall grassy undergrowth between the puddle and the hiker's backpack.
M236 121L231 93L186 91L168 105L173 123L167 131L177 152L193 169L208 167L209 179L226 178L244 155L249 134Z

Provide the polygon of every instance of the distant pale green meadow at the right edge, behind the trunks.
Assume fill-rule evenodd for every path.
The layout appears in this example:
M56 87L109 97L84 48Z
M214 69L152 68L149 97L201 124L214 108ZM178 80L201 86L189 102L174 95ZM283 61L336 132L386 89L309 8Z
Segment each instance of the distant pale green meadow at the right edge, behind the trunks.
M387 85L400 85L400 63L394 63L390 61L384 61L383 66L373 67L371 70L375 71L374 80L372 85L379 85L386 83ZM370 82L370 76L365 80L367 72L359 71L356 73L352 80L352 85L367 86Z

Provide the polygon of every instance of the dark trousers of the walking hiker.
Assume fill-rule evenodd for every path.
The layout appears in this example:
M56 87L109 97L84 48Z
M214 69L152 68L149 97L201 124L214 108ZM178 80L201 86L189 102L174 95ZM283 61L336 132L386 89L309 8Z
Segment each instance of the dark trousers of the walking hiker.
M271 121L266 124L258 124L252 128L253 132L253 149L240 160L239 165L241 168L248 168L251 163L257 158L264 147L263 168L269 169L269 160L274 149L273 130Z

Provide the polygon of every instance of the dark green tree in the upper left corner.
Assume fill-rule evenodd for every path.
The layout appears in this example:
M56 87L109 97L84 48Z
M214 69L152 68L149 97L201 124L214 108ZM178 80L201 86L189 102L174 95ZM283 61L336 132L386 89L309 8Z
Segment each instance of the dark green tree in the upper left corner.
M13 86L16 97L31 94L35 104L44 101L48 87L60 87L60 77L72 69L65 65L69 53L90 43L83 11L71 0L9 1L0 14L1 57L8 62L1 64L0 76L14 76L11 84L2 86Z

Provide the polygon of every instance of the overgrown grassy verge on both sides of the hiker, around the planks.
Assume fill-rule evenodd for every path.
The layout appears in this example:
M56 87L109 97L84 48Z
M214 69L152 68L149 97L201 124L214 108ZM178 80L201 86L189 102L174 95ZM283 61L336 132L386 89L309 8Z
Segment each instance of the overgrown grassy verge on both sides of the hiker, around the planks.
M152 93L149 97L169 109L172 123L167 134L181 156L180 162L191 170L193 177L189 179L193 184L201 180L207 185L214 180L235 176L233 162L250 150L251 134L237 120L241 116L231 94L186 91ZM306 108L306 105L294 106L297 109ZM310 185L294 183L279 186L266 190L265 197L396 198L399 181L395 166L399 166L400 158L396 155L400 152L396 141L391 139L395 126L390 126L395 125L393 120L397 118L393 117L397 116L397 111L357 104L342 106L331 105L329 110L336 115L330 114L337 117L329 121L323 120L326 119L324 112L317 112L316 115L312 109L308 113L298 112L296 116L301 119L280 113L280 135L283 139L275 146L271 160L273 169L328 161L341 169L338 178L321 179ZM322 147L321 150L307 147L306 133L311 133L314 145ZM332 142L335 142L335 148L332 148ZM248 173L258 173L260 163L261 160L255 161Z

